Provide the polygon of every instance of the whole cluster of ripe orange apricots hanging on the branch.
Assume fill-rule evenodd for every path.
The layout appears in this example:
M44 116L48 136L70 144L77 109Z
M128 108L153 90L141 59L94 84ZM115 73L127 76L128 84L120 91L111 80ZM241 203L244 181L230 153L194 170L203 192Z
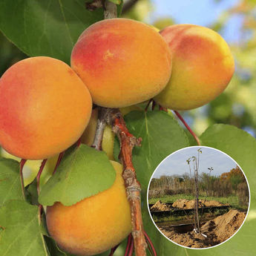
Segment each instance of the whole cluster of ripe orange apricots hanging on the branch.
M224 39L206 27L180 24L158 33L131 19L108 19L79 36L70 66L38 56L1 77L0 144L7 152L40 160L80 137L91 145L97 116L96 110L91 116L92 103L124 108L154 98L173 110L197 108L226 88L234 59ZM95 255L131 232L122 166L113 165L111 188L73 206L47 207L47 228L61 249Z

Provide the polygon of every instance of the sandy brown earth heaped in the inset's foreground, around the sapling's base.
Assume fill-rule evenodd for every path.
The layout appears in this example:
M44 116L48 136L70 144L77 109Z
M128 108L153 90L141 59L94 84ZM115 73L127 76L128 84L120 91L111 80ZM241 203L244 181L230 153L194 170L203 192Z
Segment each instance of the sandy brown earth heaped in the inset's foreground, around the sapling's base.
M207 221L200 229L201 233L206 234L207 237L203 237L202 234L197 234L194 231L179 234L174 227L162 227L160 231L166 237L182 246L206 248L222 243L231 237L242 225L245 217L245 212L230 210L214 220Z

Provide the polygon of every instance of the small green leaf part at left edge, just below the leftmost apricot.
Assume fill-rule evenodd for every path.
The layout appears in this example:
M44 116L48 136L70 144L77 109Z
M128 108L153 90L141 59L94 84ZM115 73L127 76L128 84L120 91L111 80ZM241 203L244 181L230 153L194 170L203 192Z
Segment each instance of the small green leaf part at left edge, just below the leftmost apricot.
M0 159L0 206L7 200L22 200L22 186L19 178L19 162Z

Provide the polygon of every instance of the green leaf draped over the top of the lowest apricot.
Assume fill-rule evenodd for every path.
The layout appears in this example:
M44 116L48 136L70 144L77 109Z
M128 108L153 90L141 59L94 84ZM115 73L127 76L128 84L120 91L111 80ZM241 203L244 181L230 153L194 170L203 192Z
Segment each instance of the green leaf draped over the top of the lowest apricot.
M42 187L39 203L52 206L62 202L71 206L110 188L115 177L116 172L105 152L81 144L66 151L56 174Z

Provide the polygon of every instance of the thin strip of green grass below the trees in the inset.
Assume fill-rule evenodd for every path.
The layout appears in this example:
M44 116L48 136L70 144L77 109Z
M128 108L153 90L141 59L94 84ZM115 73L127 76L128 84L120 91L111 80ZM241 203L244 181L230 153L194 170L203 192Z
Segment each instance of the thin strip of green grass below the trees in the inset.
M243 209L246 210L247 206L240 206L237 196L230 197L203 197L199 196L199 199L204 200L215 200L220 203L229 203L234 209ZM192 194L171 194L164 195L163 197L155 197L148 199L148 203L157 203L158 200L161 200L162 203L174 203L178 199L194 200L194 195Z

